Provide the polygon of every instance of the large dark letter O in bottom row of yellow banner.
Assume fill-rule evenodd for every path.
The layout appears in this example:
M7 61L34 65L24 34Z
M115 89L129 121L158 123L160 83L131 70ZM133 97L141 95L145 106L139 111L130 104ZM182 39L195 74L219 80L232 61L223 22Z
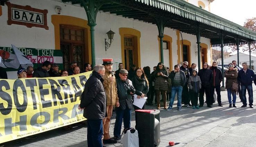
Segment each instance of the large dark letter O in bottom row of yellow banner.
M37 123L37 118L40 116L44 116L44 122L42 123ZM44 125L46 125L49 121L50 121L51 115L48 112L38 112L35 113L31 120L30 120L30 125L34 126L34 127L42 127Z

